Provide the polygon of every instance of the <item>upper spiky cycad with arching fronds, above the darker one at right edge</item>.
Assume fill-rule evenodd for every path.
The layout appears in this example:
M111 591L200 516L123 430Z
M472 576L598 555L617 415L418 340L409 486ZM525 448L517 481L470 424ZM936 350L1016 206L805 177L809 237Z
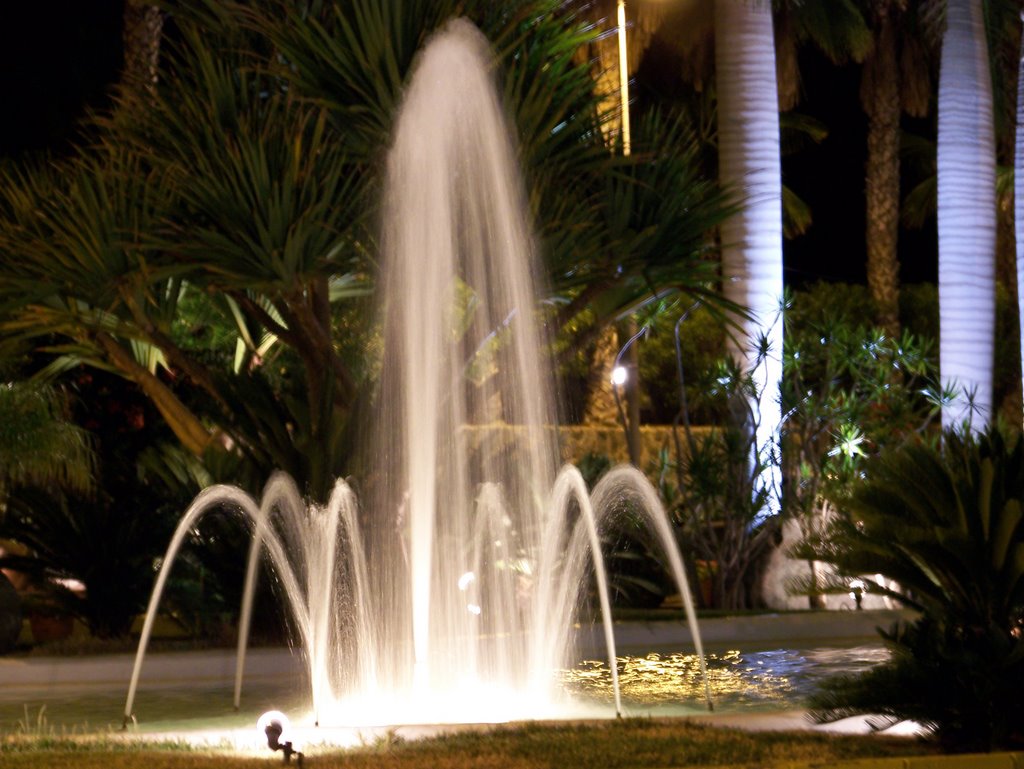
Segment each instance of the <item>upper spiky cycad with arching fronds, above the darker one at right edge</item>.
M843 574L881 573L869 589L958 625L1007 631L1024 607L1024 441L993 430L947 432L867 463L835 503L822 559Z

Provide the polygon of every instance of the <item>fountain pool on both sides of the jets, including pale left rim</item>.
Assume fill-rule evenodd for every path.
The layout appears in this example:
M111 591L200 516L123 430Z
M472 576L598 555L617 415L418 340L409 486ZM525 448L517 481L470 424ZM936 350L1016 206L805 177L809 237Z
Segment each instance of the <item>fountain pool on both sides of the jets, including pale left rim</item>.
M672 646L678 647L678 644ZM674 651L671 647L655 652L629 651L631 653L618 657L625 715L705 716L706 711L700 707L700 668L692 653ZM346 740L358 742L378 732L377 727L368 724L312 729L308 715L309 692L302 680L301 659L287 649L257 649L253 654L265 673L257 678L251 691L247 691L240 711L231 706L231 652L155 654L137 699L137 708L144 719L131 733L142 737L194 733L202 737L217 735L216 739L237 739L242 738L240 735L255 733L256 719L268 710L289 714L295 725L306 731L307 741L315 738L346 744ZM752 651L716 645L716 650L708 655L708 672L719 714L725 717L782 714L801 708L822 678L862 671L887 656L888 652L878 643ZM13 664L14 660L6 661ZM130 669L131 659L128 655L112 655L101 658L100 663L117 665L117 670L124 675ZM65 675L79 679L78 683L49 683L61 674L46 669L45 660L39 659L33 661L40 669L34 681L24 680L19 685L0 690L0 734L25 731L24 724L30 732L38 731L41 709L44 709L42 728L52 729L57 734L108 732L117 728L123 690L116 680L111 680L112 671L97 670L96 678L90 679L85 672L90 666L95 667L96 660L73 664L81 672ZM197 678L187 680L189 676ZM611 681L606 663L598 656L561 671L558 678L572 694L574 702L574 707L556 714L558 718L608 718L612 715ZM538 713L538 717L541 715ZM321 732L318 737L315 736L317 731Z

